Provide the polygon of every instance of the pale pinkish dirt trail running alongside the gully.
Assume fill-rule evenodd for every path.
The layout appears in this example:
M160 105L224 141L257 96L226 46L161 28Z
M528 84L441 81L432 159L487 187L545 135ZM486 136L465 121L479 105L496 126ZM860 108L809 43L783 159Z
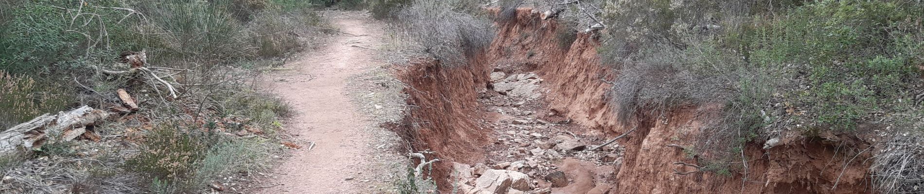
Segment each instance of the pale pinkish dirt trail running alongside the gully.
M299 134L303 148L276 169L277 186L258 193L365 193L360 177L368 177L371 166L370 124L346 94L347 78L359 74L374 62L381 28L356 13L337 14L334 27L366 35L338 34L317 51L308 51L298 61L286 64L292 70L274 76L274 91L291 103L297 115L286 122L287 133ZM372 25L374 26L374 25ZM357 43L359 42L359 43ZM353 47L353 45L366 48ZM315 145L308 151L310 143Z

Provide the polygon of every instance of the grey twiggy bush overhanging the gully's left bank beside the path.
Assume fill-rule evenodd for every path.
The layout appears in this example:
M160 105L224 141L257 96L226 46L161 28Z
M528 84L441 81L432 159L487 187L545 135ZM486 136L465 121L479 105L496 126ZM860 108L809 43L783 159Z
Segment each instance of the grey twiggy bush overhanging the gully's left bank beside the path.
M491 44L492 22L484 17L456 11L466 5L456 1L421 0L401 11L403 32L423 51L446 65L463 65Z

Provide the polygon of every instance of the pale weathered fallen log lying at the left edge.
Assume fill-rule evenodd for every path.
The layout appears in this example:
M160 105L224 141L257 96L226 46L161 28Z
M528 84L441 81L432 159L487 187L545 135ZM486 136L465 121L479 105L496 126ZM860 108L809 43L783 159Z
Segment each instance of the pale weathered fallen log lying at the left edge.
M37 148L46 142L71 141L99 124L109 113L87 106L56 115L44 114L6 131L0 131L0 155L15 154L18 149Z

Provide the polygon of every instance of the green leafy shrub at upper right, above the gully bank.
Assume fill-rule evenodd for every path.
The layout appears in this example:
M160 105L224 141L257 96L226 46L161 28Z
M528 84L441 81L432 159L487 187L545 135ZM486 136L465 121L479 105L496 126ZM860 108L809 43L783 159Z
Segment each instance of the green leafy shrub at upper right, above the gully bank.
M806 120L831 130L853 129L896 99L909 100L918 84L914 67L924 51L920 30L903 29L924 6L893 2L820 1L758 29L751 59L762 65L793 65L799 85L786 101L808 110ZM910 51L910 52L909 52Z

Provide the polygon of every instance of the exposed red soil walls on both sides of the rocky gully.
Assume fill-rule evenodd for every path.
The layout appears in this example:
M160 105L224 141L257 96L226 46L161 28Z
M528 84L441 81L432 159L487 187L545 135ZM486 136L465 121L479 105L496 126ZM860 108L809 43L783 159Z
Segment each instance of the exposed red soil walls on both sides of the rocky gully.
M403 126L419 134L407 134L419 150L432 149L442 158L476 163L483 158L487 137L477 120L484 119L478 109L478 91L485 89L492 70L505 73L535 72L545 79L546 112L538 115L565 116L590 128L591 134L614 137L628 131L616 119L607 93L618 74L600 64L596 56L598 40L592 34L579 34L570 46L559 44L559 28L553 20L521 8L514 20L499 23L491 48L469 66L444 68L433 63L417 63L402 76L410 94ZM614 91L619 92L619 91ZM668 144L691 145L699 134L703 112L721 111L721 106L675 108L652 114L639 110L628 126L638 130L618 143L626 147L622 165L614 165L616 185L611 193L871 193L869 158L872 152L864 137L822 134L806 138L789 134L783 143L769 150L763 142L752 143L741 152L748 158L747 172L719 175L714 172L677 175L676 171L696 170L673 165L675 162L699 164L682 150ZM413 122L426 124L414 125ZM691 127L692 126L692 127ZM862 128L862 126L861 126ZM861 131L863 129L860 129ZM445 165L444 165L445 166ZM439 180L439 179L438 179ZM835 187L836 184L836 187ZM444 184L443 184L444 185ZM445 185L444 185L445 186Z

